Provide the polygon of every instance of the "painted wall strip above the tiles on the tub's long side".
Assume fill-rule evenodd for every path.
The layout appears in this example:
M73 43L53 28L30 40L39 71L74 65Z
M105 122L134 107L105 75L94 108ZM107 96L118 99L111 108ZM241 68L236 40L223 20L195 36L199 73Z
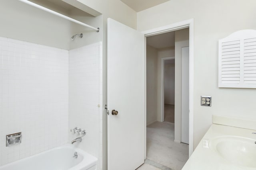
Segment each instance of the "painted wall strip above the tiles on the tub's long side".
M2 0L0 36L69 49L70 21L17 0Z

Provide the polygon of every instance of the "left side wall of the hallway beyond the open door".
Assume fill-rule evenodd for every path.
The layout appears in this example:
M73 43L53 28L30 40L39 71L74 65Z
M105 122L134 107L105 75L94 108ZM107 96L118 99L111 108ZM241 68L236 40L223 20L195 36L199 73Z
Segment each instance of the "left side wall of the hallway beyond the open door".
M147 45L147 125L157 121L157 49Z

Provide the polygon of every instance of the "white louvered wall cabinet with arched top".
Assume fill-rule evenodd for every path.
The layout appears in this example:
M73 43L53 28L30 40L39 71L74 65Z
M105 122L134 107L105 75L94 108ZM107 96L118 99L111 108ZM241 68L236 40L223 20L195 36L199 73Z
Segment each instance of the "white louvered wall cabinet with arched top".
M219 87L256 88L256 30L219 40Z

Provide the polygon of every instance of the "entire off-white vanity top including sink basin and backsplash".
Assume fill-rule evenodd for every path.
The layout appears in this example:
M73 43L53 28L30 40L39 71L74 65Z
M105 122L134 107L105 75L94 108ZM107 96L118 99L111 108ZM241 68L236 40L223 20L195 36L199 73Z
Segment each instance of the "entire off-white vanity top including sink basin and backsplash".
M250 162L250 158L255 159L256 120L213 115L212 122L182 170L256 170L256 164L252 163L255 161ZM230 154L235 150L233 146L241 149L241 154ZM242 156L235 161L242 154L249 155L249 159Z

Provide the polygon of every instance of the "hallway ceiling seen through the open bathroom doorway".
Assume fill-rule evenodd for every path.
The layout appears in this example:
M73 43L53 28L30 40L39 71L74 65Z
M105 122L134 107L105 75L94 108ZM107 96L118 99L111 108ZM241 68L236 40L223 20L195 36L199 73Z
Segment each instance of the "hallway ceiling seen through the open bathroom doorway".
M147 45L157 49L175 46L175 31L147 37Z

